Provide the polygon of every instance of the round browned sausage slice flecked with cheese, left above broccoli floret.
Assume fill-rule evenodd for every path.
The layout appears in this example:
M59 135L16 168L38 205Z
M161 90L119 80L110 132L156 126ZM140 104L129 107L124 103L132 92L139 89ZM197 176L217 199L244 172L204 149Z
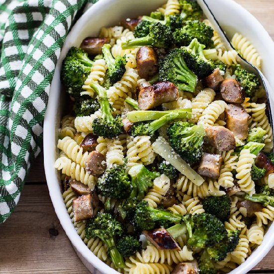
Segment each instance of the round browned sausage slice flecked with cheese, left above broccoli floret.
M100 176L104 173L107 167L106 158L102 153L93 150L89 153L85 161L85 167L89 174L92 174L93 176Z

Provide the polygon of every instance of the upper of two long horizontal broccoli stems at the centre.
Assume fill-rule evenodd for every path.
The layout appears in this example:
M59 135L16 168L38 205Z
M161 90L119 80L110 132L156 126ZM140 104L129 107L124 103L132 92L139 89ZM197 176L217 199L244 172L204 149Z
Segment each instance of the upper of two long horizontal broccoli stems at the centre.
M132 123L142 122L142 121L152 121L157 120L169 113L178 113L178 119L191 118L191 109L178 109L169 111L131 111L128 113L128 119Z

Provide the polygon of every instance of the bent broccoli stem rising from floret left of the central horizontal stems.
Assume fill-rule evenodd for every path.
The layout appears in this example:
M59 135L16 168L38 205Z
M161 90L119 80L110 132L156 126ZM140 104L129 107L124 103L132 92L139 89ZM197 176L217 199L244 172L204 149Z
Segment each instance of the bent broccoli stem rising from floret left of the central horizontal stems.
M104 89L95 82L91 82L90 87L94 89L94 91L98 94L98 101L100 103L100 108L102 111L102 118L106 120L108 123L111 122L113 120L113 116L111 114L111 108L106 89Z

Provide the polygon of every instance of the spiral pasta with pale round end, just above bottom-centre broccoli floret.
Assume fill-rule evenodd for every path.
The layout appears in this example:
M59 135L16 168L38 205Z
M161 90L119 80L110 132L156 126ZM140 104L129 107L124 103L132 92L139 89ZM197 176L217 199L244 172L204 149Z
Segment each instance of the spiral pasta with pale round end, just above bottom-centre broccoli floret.
M160 201L163 199L169 187L169 178L162 174L160 177L154 179L152 188L144 196L143 200L147 201L148 206L156 208Z

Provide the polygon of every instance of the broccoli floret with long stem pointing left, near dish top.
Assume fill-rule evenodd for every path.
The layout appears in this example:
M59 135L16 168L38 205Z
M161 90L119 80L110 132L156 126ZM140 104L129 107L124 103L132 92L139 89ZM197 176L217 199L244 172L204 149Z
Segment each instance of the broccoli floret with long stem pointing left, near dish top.
M140 38L129 40L121 44L122 49L129 49L141 46L155 46L168 48L173 44L172 32L169 26L153 22L149 26L149 33Z

